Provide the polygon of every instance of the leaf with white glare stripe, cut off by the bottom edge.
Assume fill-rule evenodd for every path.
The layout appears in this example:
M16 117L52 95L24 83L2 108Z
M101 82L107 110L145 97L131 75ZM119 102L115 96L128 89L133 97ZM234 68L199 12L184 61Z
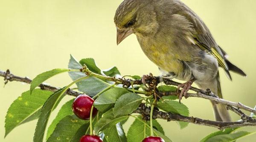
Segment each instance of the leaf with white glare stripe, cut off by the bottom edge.
M116 125L105 129L104 134L108 142L127 142L121 123L117 123Z

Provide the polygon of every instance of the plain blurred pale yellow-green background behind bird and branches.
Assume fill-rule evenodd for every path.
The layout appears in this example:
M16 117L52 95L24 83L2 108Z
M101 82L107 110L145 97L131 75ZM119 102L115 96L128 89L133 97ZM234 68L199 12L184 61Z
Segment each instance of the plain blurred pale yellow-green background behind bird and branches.
M122 75L158 75L157 67L143 54L132 35L116 46L113 17L122 0L0 0L0 70L10 69L20 76L34 78L53 68L66 68L70 54L77 59L94 58L101 69L117 66ZM221 71L224 98L256 105L256 0L183 0L208 25L230 60L248 75L232 74L229 81ZM0 78L3 79L3 78ZM65 86L67 74L47 83ZM0 84L0 142L32 142L36 121L15 128L4 139L7 109L29 85L10 82ZM70 99L66 97L63 102ZM62 102L62 103L63 103ZM213 119L207 100L183 99L190 115ZM53 117L55 113L53 114ZM52 118L53 118L52 117ZM232 114L234 120L239 119ZM51 118L51 120L52 120ZM174 142L198 142L217 131L215 128L190 124L180 130L175 122L160 121L166 135ZM130 123L126 124L127 127ZM256 131L256 128L245 128ZM256 135L239 142L256 141Z

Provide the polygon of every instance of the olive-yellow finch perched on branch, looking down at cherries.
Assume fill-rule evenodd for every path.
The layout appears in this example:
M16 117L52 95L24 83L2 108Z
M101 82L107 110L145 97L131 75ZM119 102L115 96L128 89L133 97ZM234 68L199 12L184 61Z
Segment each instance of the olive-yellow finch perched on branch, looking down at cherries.
M135 34L163 78L186 81L177 87L182 88L179 100L186 97L193 83L223 98L219 67L230 80L230 71L246 76L227 59L202 19L180 0L124 0L116 10L114 23L117 45ZM223 104L211 103L216 121L231 121Z

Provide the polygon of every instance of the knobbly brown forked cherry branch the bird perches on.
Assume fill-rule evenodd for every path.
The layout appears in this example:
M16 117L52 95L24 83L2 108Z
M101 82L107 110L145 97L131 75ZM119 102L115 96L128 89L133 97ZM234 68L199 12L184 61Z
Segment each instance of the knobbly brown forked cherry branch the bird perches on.
M83 72L85 72L87 75L90 76L95 76L97 78L101 78L101 79L105 79L108 81L115 81L117 84L123 84L123 87L128 88L129 86L131 86L131 84L144 84L147 83L150 87L154 87L155 85L157 85L158 83L160 83L160 78L159 77L154 77L154 76L147 76L146 80L126 80L125 78L111 78L111 77L106 77L103 75L98 75L95 74L93 72L90 72L89 70L81 70ZM4 77L4 81L5 84L8 83L8 81L19 81L19 82L24 82L27 84L31 83L31 79L25 77L19 77L16 75L13 75L10 70L7 70L6 72L3 72L0 70L0 76ZM180 83L177 83L175 81L171 81L168 79L163 79L163 82L166 85L174 85L177 86ZM43 90L48 90L48 91L52 91L55 92L57 91L58 87L54 87L54 86L50 86L47 84L40 84L39 87ZM207 100L212 100L215 101L216 103L222 103L224 105L227 106L227 109L235 112L236 114L238 114L239 116L241 116L241 121L237 121L237 122L218 122L218 121L211 121L211 120L204 120L201 118L197 118L197 117L186 117L186 116L182 116L180 114L173 114L170 112L163 112L163 111L159 111L158 109L154 109L153 115L154 115L154 119L159 118L159 119L163 119L163 120L167 120L167 121L182 121L182 122L188 122L188 123L194 123L197 125L206 125L206 126L211 126L211 127L215 127L218 129L224 129L224 128L235 128L235 127L241 127L241 126L256 126L256 120L253 119L252 117L247 116L246 114L244 114L240 109L244 109L253 113L256 113L255 109L252 109L248 106L244 106L241 103L234 103L234 102L230 102L228 100L224 100L221 98L216 97L214 94L212 94L212 92L210 92L210 90L204 91L201 89L197 89L195 87L192 87L191 90L197 92L197 93L188 93L188 97L201 97ZM130 90L131 91L131 90ZM81 93L73 91L72 89L68 89L67 90L67 95L72 95L77 97L78 95L81 95ZM151 92L147 92L146 95L150 95ZM176 95L177 92L157 92L157 94L159 96L164 96L164 95ZM237 107L237 108L235 108ZM239 109L240 108L240 109ZM148 116L150 114L150 107L146 107L145 104L142 104L136 111L134 111L134 113L140 113L143 116Z

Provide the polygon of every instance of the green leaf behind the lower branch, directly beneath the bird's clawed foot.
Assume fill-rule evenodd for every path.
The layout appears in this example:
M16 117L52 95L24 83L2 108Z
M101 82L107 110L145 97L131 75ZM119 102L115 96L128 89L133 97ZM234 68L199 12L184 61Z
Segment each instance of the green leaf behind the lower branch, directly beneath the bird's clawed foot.
M174 100L159 101L157 102L157 107L166 112L189 116L189 109L183 103L179 103ZM177 124L180 125L181 129L185 128L188 125L188 123L180 121L178 121Z

